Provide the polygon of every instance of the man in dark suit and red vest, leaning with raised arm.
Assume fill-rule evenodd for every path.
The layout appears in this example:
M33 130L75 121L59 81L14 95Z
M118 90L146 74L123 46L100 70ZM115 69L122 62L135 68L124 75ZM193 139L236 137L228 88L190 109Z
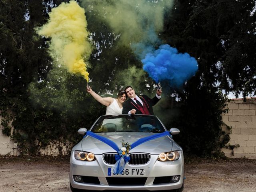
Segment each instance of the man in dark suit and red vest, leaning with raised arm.
M160 100L162 90L157 90L156 96L152 99L146 95L137 96L131 86L127 86L124 91L129 99L123 104L123 114L154 115L152 106Z

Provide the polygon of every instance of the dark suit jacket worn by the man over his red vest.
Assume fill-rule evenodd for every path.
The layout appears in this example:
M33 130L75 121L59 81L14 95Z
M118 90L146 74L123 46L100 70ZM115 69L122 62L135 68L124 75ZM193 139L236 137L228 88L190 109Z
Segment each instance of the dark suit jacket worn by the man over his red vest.
M148 108L148 111L150 112L150 114L154 115L152 106L154 106L160 99L158 99L156 96L150 99L146 95L141 95L139 96L139 98L142 100L143 106L146 104L146 107ZM123 114L128 114L128 112L132 109L136 110L136 114L142 114L142 112L137 106L137 103L130 98L123 104Z

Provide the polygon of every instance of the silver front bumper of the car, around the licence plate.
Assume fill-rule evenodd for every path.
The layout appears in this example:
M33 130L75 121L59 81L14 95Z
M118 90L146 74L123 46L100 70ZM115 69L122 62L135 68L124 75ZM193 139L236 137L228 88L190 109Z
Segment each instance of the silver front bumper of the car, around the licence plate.
M101 154L95 156L95 161L80 161L74 158L74 151L72 151L70 158L70 184L73 188L84 190L156 191L182 187L184 179L182 151L180 151L180 158L175 161L160 162L157 160L158 155L151 155L150 161L147 164L126 164L124 170L127 169L130 173L137 172L138 175L136 176L113 176L109 169L113 169L114 165L106 164ZM144 170L143 173L141 173L142 170ZM76 182L74 176L82 176L84 181ZM178 182L166 182L166 179L168 180L171 176L179 176ZM87 180L87 178L89 179ZM98 182L94 182L90 178L95 178Z

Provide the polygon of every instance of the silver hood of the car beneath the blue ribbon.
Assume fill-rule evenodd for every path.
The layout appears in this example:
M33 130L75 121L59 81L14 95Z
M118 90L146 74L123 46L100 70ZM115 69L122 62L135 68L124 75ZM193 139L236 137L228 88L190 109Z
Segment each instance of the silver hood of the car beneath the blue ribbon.
M132 144L140 138L150 136L156 133L144 133L144 132L111 132L111 133L97 133L100 136L106 137L117 144L120 148L122 147L122 140ZM112 147L108 146L104 142L93 138L91 136L86 136L78 145L82 148L81 150L86 152L92 152L94 154L103 154L109 152L116 152ZM79 146L77 146L79 147ZM76 147L76 150L79 150ZM163 136L144 142L130 150L130 153L143 152L150 154L160 154L162 152L168 152L171 150L182 150L172 138L169 136Z

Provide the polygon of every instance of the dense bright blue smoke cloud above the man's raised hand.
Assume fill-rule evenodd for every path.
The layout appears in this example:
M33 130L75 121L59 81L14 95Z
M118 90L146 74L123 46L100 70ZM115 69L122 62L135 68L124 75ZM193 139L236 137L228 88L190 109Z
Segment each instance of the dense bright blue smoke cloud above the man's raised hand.
M198 70L194 57L190 57L188 53L178 53L176 48L168 44L148 52L141 61L143 70L148 72L155 82L168 81L173 88L180 88Z

